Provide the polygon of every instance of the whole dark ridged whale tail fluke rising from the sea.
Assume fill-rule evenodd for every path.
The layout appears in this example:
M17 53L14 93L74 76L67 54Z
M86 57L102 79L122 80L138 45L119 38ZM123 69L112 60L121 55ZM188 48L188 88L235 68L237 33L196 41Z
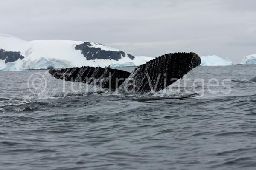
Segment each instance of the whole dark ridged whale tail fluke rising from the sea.
M131 74L100 67L51 69L49 73L66 81L95 83L102 88L118 88L121 92L145 93L166 88L200 64L201 59L195 53L170 53L140 65Z

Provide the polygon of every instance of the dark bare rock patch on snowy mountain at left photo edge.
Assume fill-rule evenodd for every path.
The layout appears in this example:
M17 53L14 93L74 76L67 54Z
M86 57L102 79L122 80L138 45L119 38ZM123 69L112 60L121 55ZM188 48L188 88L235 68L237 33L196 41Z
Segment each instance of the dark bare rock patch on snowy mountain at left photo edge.
M3 49L0 49L0 59L5 60L5 63L7 62L15 62L18 59L25 58L20 54L20 52L13 52L13 51L5 51Z

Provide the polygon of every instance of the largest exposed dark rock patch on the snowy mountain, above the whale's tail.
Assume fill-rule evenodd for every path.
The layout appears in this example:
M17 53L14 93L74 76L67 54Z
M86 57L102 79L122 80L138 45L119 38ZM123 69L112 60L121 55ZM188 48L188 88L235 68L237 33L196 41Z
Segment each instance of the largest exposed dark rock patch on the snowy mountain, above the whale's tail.
M75 49L81 50L87 60L114 59L118 61L118 59L121 59L121 56L125 57L125 53L123 51L106 51L101 48L94 48L90 42L84 42L83 44L76 45Z

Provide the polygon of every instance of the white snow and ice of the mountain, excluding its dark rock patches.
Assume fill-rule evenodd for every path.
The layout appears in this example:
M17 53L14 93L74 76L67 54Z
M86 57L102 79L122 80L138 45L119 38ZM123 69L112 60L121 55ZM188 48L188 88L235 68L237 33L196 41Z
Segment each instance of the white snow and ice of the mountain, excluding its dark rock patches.
M19 38L0 34L0 49L5 51L20 52L25 58L12 62L7 65L0 59L0 70L23 70L23 69L47 69L53 68L67 68L67 67L107 67L109 65L122 65L130 63L129 65L141 65L149 60L151 57L135 57L130 59L127 54L121 56L121 59L91 59L87 60L81 50L76 50L76 45L83 44L82 41L71 40L35 40L24 41ZM107 47L96 42L89 42L90 48L100 48L102 51L120 51L115 48ZM133 64L132 64L133 63Z

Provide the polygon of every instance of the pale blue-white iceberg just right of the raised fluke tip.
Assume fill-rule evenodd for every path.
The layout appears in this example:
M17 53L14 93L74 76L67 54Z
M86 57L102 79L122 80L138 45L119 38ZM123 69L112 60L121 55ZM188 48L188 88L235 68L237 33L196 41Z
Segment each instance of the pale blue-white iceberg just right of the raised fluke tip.
M232 61L229 59L223 59L218 56L202 56L200 66L227 66L232 65Z

